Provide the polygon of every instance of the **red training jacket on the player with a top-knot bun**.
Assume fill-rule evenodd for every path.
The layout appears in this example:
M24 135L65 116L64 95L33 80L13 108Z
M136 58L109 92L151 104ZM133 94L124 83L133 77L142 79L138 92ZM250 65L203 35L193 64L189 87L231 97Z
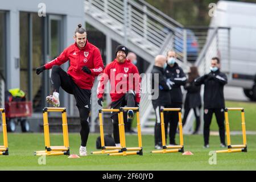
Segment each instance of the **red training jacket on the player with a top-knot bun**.
M51 69L53 65L61 65L69 60L68 75L81 89L92 89L94 77L103 72L104 65L101 58L100 50L86 40L86 46L80 49L77 44L64 49L64 51L49 61L44 66ZM82 71L82 67L88 67L92 72L90 75Z

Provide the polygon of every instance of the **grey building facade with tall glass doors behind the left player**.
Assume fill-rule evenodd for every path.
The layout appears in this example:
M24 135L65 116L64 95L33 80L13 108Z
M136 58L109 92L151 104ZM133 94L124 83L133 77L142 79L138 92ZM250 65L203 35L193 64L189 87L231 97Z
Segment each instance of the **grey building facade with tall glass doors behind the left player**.
M0 0L0 90L20 88L32 101L32 118L42 118L46 96L52 92L51 70L35 69L55 59L74 43L77 24L85 26L84 1ZM68 63L62 66L67 70ZM73 96L61 92L61 106L72 111Z

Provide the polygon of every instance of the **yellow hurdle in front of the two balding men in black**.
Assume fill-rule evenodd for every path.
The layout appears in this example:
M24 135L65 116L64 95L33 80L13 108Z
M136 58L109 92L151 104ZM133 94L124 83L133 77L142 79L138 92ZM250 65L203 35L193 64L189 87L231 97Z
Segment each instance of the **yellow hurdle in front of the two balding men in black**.
M177 146L167 146L166 145L166 131L164 130L164 111L178 111L180 144ZM184 152L181 108L163 108L160 110L160 118L161 118L161 133L162 133L163 150L154 150L154 151L151 151L151 153L165 154L165 153L172 153L172 152Z

